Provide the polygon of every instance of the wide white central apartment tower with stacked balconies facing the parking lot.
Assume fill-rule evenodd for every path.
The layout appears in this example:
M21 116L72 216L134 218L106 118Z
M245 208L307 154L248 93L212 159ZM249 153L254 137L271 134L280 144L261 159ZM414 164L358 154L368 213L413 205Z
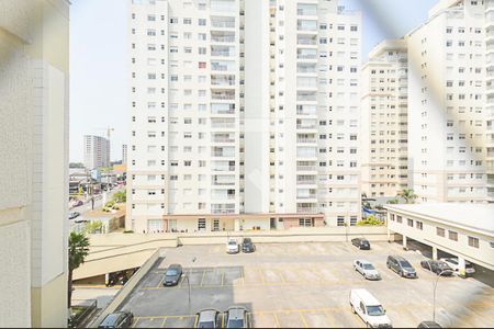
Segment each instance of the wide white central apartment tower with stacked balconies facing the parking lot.
M359 13L131 2L128 229L357 223Z

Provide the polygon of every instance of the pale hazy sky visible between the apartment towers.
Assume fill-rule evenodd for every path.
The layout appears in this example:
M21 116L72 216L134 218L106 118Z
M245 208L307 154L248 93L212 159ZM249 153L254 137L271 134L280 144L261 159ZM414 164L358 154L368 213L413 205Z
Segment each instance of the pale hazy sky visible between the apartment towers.
M255 0L248 0L255 1ZM267 1L267 0L263 0ZM340 0L362 12L362 60L382 39L419 26L439 0ZM72 0L70 8L70 161L82 162L82 136L111 135L111 160L121 160L127 128L127 3Z

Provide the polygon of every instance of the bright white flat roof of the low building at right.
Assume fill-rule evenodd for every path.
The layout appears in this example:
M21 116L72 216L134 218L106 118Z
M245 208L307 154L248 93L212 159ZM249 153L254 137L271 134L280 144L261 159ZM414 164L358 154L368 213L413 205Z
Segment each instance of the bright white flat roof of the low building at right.
M469 230L494 236L494 204L420 203L385 205L389 211L439 220Z

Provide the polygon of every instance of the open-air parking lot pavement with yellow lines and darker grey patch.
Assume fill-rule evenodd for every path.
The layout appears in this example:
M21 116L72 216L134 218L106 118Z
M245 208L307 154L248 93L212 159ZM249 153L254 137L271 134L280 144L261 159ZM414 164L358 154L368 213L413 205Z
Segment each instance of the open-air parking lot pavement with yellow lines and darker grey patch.
M402 279L389 270L388 254L404 256L419 277ZM433 318L436 277L419 266L420 254L396 243L374 242L370 251L350 242L266 243L250 254L226 254L223 245L186 246L162 256L121 306L134 314L133 327L191 327L198 310L233 305L250 309L255 327L364 327L349 307L349 292L358 287L382 303L394 327ZM359 258L373 262L382 281L355 272L352 261ZM189 281L182 276L178 286L164 287L171 263L181 263ZM444 327L490 327L493 309L492 287L474 279L440 277L436 320Z

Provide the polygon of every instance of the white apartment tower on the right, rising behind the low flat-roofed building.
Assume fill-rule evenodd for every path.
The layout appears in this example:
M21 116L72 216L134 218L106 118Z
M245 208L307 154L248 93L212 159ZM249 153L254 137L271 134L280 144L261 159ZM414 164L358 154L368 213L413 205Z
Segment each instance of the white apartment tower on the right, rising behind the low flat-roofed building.
M408 37L408 164L422 202L487 201L486 5L442 0Z

